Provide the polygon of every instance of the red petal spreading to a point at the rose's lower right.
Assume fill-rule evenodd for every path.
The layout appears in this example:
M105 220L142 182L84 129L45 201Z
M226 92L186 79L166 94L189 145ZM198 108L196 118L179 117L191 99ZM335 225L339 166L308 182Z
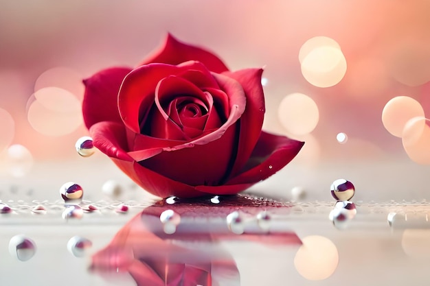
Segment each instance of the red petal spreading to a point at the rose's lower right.
M197 186L196 189L218 195L244 191L282 169L293 160L303 145L304 142L285 136L261 132L260 139L249 160L250 169L227 181L223 186Z

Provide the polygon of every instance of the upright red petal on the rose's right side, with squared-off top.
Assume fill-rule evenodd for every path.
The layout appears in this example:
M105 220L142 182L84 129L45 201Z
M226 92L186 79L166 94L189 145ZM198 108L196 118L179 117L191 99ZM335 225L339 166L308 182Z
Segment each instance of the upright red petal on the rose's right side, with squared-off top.
M240 117L238 154L231 176L236 176L247 163L257 141L264 120L264 93L261 85L262 69L242 69L234 73L223 73L237 80L247 96L247 108Z

